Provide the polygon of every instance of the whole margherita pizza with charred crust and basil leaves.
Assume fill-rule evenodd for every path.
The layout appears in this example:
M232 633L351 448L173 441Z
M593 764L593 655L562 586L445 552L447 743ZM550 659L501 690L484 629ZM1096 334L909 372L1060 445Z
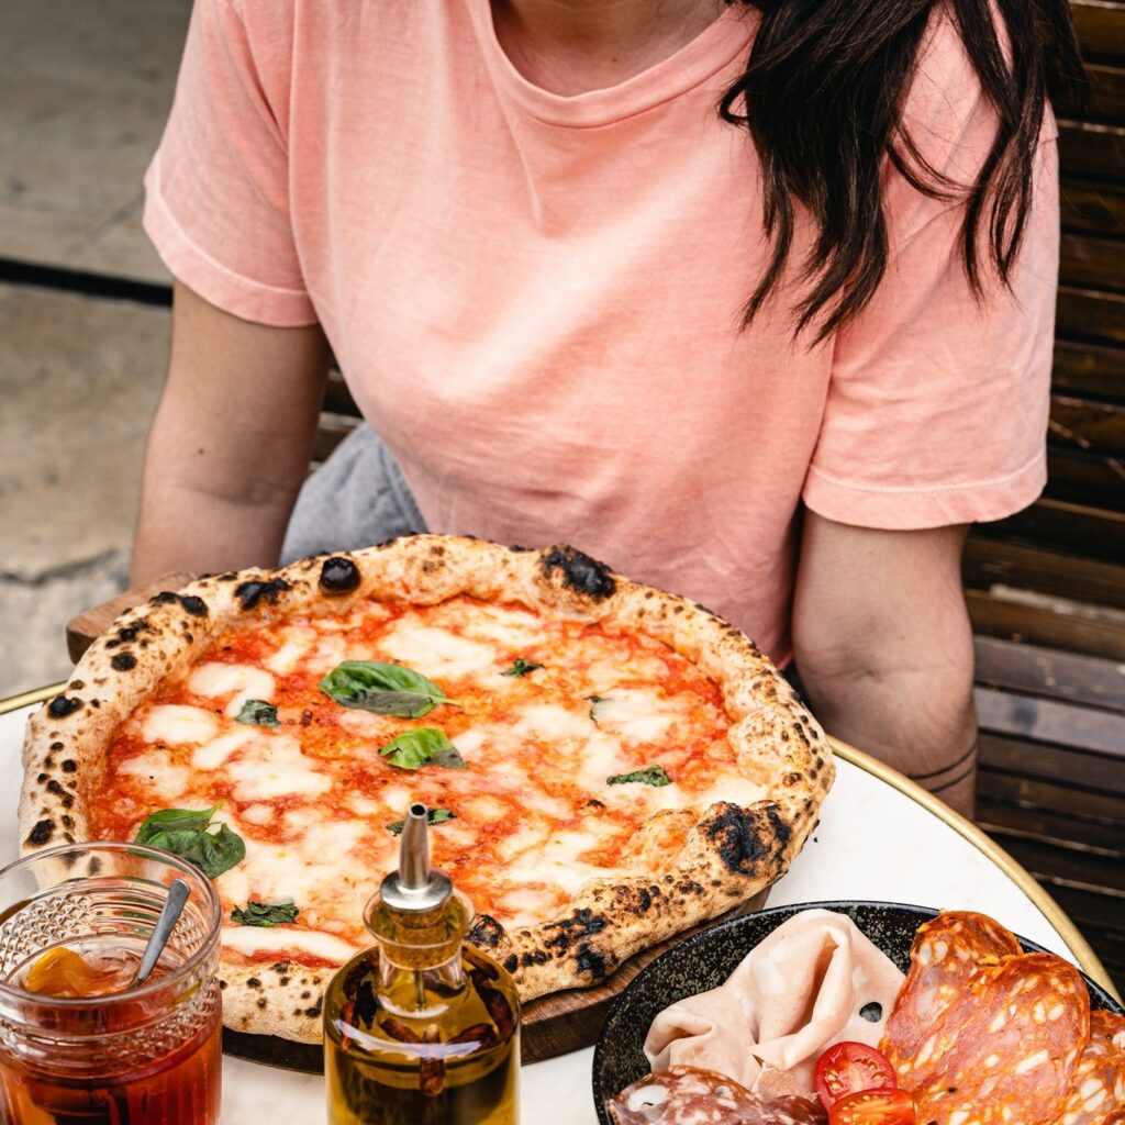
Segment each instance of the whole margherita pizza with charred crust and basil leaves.
M305 1042L411 803L531 999L775 881L834 774L713 613L569 547L443 536L156 595L24 754L24 849L187 839L223 900L225 1022Z

